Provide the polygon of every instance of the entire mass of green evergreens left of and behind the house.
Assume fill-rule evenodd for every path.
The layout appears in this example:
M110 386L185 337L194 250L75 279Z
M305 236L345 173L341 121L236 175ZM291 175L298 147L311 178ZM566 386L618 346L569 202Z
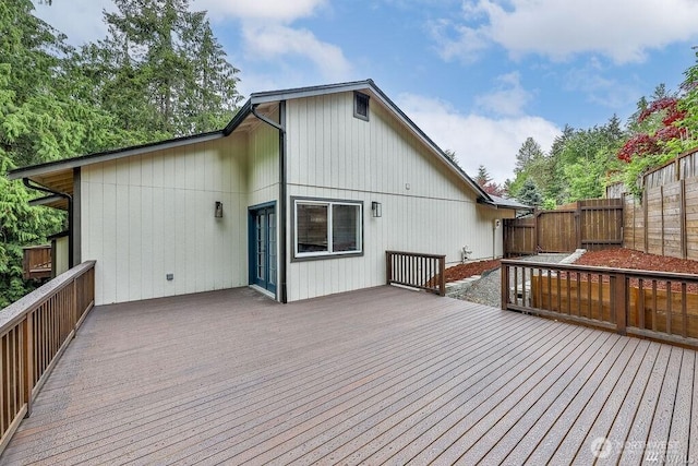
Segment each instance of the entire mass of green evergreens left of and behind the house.
M31 0L0 1L0 308L31 289L22 247L65 222L29 207L37 194L9 169L220 129L240 100L238 70L189 0L116 4L109 36L75 50Z

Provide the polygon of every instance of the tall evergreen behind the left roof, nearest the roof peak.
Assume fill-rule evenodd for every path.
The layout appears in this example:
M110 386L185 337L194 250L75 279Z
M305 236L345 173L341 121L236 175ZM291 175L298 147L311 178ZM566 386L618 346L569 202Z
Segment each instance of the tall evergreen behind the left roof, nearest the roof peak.
M222 128L241 96L205 12L189 0L116 0L108 36L83 48L97 103L149 140Z

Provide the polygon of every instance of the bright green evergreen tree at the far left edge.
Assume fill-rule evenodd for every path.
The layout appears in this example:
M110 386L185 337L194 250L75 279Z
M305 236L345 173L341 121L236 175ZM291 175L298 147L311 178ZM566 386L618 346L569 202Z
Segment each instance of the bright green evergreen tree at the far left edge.
M0 2L0 308L32 287L22 282L22 247L64 222L59 211L29 207L36 192L8 181L7 171L123 141L112 118L83 98L91 86L64 37L33 10L29 0Z

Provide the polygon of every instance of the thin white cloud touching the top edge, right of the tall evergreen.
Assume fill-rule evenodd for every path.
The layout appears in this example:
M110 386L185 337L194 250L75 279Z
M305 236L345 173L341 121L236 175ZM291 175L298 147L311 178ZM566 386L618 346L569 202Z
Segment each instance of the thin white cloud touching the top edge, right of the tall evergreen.
M196 0L193 8L208 11L214 19L225 15L288 23L310 16L325 3L326 0Z

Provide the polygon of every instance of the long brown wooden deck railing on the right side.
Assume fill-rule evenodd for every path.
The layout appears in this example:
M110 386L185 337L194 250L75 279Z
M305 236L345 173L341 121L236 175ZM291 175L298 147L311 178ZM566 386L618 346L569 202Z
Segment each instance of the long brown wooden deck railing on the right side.
M698 275L505 260L502 309L698 347Z

